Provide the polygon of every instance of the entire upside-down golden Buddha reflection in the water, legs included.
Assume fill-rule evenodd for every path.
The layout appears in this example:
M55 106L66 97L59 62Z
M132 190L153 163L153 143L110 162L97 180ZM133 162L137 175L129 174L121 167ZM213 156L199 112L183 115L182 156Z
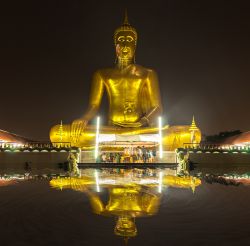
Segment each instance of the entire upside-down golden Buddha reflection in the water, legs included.
M110 181L114 182L110 182ZM116 217L114 233L125 239L137 235L135 218L152 216L157 213L161 200L159 180L156 177L131 179L129 182L124 176L108 176L100 178L102 188L109 190L109 199L106 205L98 193L91 191L96 185L94 178L81 177L71 179L53 179L50 184L53 188L71 188L88 195L93 212L104 216ZM143 184L143 185L142 185ZM199 186L201 181L194 177L162 177L162 186L176 188L191 188Z

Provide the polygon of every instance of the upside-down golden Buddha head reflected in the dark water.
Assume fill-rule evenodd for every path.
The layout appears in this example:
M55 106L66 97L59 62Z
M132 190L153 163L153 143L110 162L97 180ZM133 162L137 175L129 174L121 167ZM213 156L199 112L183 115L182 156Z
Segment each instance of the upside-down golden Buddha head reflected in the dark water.
M115 226L115 234L122 237L135 237L137 228L134 219L131 216L119 217Z

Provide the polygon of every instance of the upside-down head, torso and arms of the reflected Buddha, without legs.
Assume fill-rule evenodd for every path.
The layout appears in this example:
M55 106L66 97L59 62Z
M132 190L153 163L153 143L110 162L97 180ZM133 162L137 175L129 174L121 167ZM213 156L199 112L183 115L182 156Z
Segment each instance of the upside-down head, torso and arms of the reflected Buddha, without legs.
M109 187L108 189L109 201L106 205L95 193L88 192L93 212L116 217L114 229L116 235L125 238L136 236L135 218L157 213L161 194L139 185Z

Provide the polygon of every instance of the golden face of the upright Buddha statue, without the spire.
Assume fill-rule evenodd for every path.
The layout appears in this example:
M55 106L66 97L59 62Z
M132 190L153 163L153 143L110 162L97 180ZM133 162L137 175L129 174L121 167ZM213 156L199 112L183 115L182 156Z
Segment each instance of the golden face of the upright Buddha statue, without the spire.
M136 40L133 32L121 31L116 37L116 55L120 59L132 59L135 55Z

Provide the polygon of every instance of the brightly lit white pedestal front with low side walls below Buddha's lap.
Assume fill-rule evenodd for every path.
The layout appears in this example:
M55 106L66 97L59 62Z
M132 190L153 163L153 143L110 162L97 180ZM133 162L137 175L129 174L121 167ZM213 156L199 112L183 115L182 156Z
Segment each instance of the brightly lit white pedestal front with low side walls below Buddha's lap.
M100 134L98 137L99 154L109 156L111 153L121 156L119 163L130 164L138 163L143 165L143 155L151 155L151 163L176 163L175 151L163 151L163 158L159 158L159 135L158 134L135 134L135 135L119 135L119 134ZM138 160L140 156L141 161ZM149 157L150 158L150 157ZM148 159L149 160L149 159ZM144 160L145 161L145 160ZM81 163L94 163L94 150L81 152ZM117 163L116 159L112 163ZM150 163L148 161L147 163Z

